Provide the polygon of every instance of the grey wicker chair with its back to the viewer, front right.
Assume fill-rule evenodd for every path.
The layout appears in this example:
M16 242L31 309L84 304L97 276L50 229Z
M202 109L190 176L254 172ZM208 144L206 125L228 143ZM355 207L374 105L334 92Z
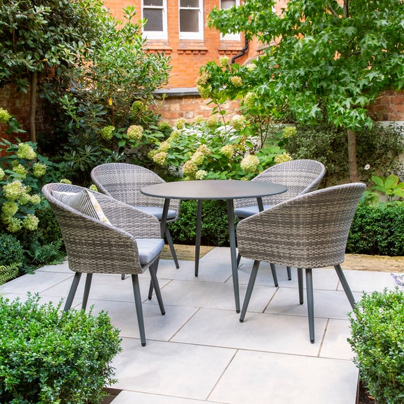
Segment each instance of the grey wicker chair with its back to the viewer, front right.
M297 196L242 220L237 238L240 254L254 260L240 322L244 321L261 261L297 267L300 304L306 270L309 334L314 342L312 268L334 266L352 307L354 297L341 270L353 215L366 186L337 185Z

